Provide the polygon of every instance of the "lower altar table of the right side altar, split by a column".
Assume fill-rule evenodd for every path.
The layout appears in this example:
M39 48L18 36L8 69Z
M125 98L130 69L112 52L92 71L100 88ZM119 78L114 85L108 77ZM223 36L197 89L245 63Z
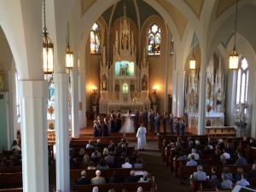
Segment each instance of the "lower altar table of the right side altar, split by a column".
M188 126L196 127L198 125L198 113L187 113ZM206 113L206 126L224 126L224 113Z

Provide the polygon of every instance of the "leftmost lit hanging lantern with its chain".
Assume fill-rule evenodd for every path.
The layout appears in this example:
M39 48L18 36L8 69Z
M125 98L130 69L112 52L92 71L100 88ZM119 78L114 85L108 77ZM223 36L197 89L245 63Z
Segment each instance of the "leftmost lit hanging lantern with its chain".
M43 32L43 59L44 59L44 74L54 73L54 46L46 28L45 21L45 0L44 0L44 32Z

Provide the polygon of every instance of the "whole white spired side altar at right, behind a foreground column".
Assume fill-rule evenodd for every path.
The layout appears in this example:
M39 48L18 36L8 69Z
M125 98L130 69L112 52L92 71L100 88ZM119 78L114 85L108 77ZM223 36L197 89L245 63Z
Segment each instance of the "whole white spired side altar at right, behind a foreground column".
M214 71L214 67L218 66ZM215 74L215 75L214 75ZM199 79L199 70L190 70L185 84L185 113L189 127L197 127L200 81L207 81L206 126L224 126L225 85L221 59L215 63L213 56L207 66L207 79Z

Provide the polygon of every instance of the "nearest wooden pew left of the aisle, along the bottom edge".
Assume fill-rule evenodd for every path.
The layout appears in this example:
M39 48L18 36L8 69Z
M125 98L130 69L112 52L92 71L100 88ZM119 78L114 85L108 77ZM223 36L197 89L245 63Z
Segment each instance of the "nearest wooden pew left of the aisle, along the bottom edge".
M152 188L152 183L106 183L106 184L88 184L88 185L75 185L73 186L73 191L84 192L92 191L92 189L97 186L99 191L108 191L109 189L114 189L115 191L122 191L127 189L128 191L137 191L138 187L142 187L143 191L150 191Z

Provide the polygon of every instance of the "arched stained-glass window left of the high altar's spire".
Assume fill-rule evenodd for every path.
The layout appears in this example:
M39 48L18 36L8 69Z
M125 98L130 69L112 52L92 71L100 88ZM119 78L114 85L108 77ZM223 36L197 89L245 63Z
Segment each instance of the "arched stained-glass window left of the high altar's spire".
M101 43L101 28L95 23L90 30L90 54L100 54Z

